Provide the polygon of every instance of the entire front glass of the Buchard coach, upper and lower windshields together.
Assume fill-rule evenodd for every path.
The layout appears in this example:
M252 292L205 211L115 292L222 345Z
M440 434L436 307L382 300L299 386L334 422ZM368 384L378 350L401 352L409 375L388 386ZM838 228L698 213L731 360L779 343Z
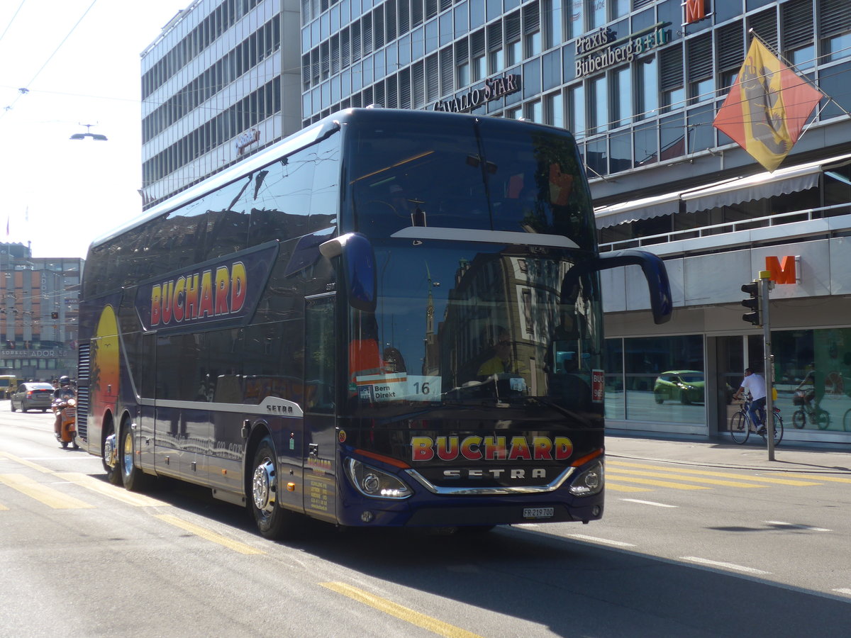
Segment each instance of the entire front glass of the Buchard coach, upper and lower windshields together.
M595 371L602 378L597 275L574 271L596 249L574 141L534 125L508 134L502 123L375 121L348 132L344 226L369 237L378 288L374 313L350 314L354 413L602 412L591 405ZM430 240L435 228L475 232ZM527 233L528 245L477 241L488 231Z

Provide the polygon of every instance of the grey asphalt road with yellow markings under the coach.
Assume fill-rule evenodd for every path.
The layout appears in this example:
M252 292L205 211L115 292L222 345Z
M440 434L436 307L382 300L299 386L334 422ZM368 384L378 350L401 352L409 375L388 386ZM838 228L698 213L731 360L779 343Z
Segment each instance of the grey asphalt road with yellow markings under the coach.
M848 633L851 496L827 475L620 456L596 524L281 544L206 490L109 485L51 419L0 402L0 636Z

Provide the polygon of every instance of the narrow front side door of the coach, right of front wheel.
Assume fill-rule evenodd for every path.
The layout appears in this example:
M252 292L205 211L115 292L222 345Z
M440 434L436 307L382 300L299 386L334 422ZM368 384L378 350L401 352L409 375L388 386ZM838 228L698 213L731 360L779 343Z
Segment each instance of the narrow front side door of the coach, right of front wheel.
M335 293L305 299L304 506L311 516L336 520Z

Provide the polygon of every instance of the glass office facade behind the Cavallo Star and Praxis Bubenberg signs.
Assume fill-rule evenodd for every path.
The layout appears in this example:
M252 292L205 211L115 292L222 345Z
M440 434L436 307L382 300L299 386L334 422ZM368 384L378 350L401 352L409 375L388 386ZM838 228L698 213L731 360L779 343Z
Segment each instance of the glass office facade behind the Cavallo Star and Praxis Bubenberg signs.
M700 103L704 115L717 111L745 58L749 29L816 82L829 82L851 56L848 3L725 0L711 9L683 26L679 0L302 0L303 89L311 96L303 123L376 96L389 108L433 108L481 87L488 74L517 73L522 94L472 112L516 117L519 106L521 117L567 124L587 140L581 152L593 178L729 144L711 118L686 117L685 109ZM339 14L339 32L316 27L328 14ZM386 73L370 77L377 66ZM534 104L552 88L561 100ZM851 109L845 92L831 97ZM603 162L612 145L617 161Z

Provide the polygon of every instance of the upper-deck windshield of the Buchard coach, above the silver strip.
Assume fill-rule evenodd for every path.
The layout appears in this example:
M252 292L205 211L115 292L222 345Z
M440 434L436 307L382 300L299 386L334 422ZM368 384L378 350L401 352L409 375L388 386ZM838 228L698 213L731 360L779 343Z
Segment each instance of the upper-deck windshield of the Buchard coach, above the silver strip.
M371 239L411 225L555 234L595 249L573 138L501 124L360 122L346 142L351 230Z

